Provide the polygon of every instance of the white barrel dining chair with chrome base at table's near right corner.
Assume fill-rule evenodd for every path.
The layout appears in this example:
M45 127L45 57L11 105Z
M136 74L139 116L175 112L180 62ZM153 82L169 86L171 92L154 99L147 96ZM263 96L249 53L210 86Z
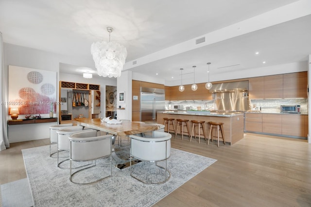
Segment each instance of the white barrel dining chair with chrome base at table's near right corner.
M171 173L167 169L167 159L171 155L171 138L172 135L167 132L153 131L150 133L144 133L143 136L130 135L131 147L130 147L130 174L135 179L143 183L148 184L161 184L168 181L171 177ZM161 181L148 181L143 179L142 176L150 176L148 169L144 169L144 175L141 174L139 178L135 175L133 171L135 170L135 165L132 167L132 159L137 159L139 161L155 162L155 167L164 169L164 179ZM165 167L157 165L158 161L165 160ZM158 175L156 175L158 177Z

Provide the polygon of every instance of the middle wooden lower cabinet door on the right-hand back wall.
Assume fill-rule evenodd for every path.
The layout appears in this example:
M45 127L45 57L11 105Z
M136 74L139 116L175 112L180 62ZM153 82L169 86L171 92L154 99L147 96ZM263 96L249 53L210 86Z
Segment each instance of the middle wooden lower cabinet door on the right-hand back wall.
M262 114L262 132L269 134L282 134L281 114Z

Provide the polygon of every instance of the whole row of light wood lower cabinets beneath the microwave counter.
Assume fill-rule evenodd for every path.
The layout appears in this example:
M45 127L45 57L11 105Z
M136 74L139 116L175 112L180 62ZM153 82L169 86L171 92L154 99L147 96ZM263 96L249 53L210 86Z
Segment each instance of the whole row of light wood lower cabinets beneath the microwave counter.
M245 132L308 137L308 115L245 113Z

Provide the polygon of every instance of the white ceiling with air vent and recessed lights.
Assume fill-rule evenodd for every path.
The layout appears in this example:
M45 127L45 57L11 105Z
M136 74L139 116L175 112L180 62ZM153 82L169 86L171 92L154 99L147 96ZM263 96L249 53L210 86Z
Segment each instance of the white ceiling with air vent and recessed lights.
M124 69L167 81L193 65L206 74L207 62L212 75L311 54L310 0L0 0L0 32L10 44L92 59L90 45L108 41L107 26L111 41L127 48ZM94 66L80 67L63 63L60 72Z

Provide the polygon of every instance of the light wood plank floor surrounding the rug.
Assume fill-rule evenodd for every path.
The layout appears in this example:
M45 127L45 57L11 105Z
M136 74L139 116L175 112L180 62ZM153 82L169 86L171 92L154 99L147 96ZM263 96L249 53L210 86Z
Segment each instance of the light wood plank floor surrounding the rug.
M0 183L26 178L21 149L49 139L11 144L0 152ZM311 207L311 144L246 133L229 146L172 138L172 147L218 161L155 207Z

